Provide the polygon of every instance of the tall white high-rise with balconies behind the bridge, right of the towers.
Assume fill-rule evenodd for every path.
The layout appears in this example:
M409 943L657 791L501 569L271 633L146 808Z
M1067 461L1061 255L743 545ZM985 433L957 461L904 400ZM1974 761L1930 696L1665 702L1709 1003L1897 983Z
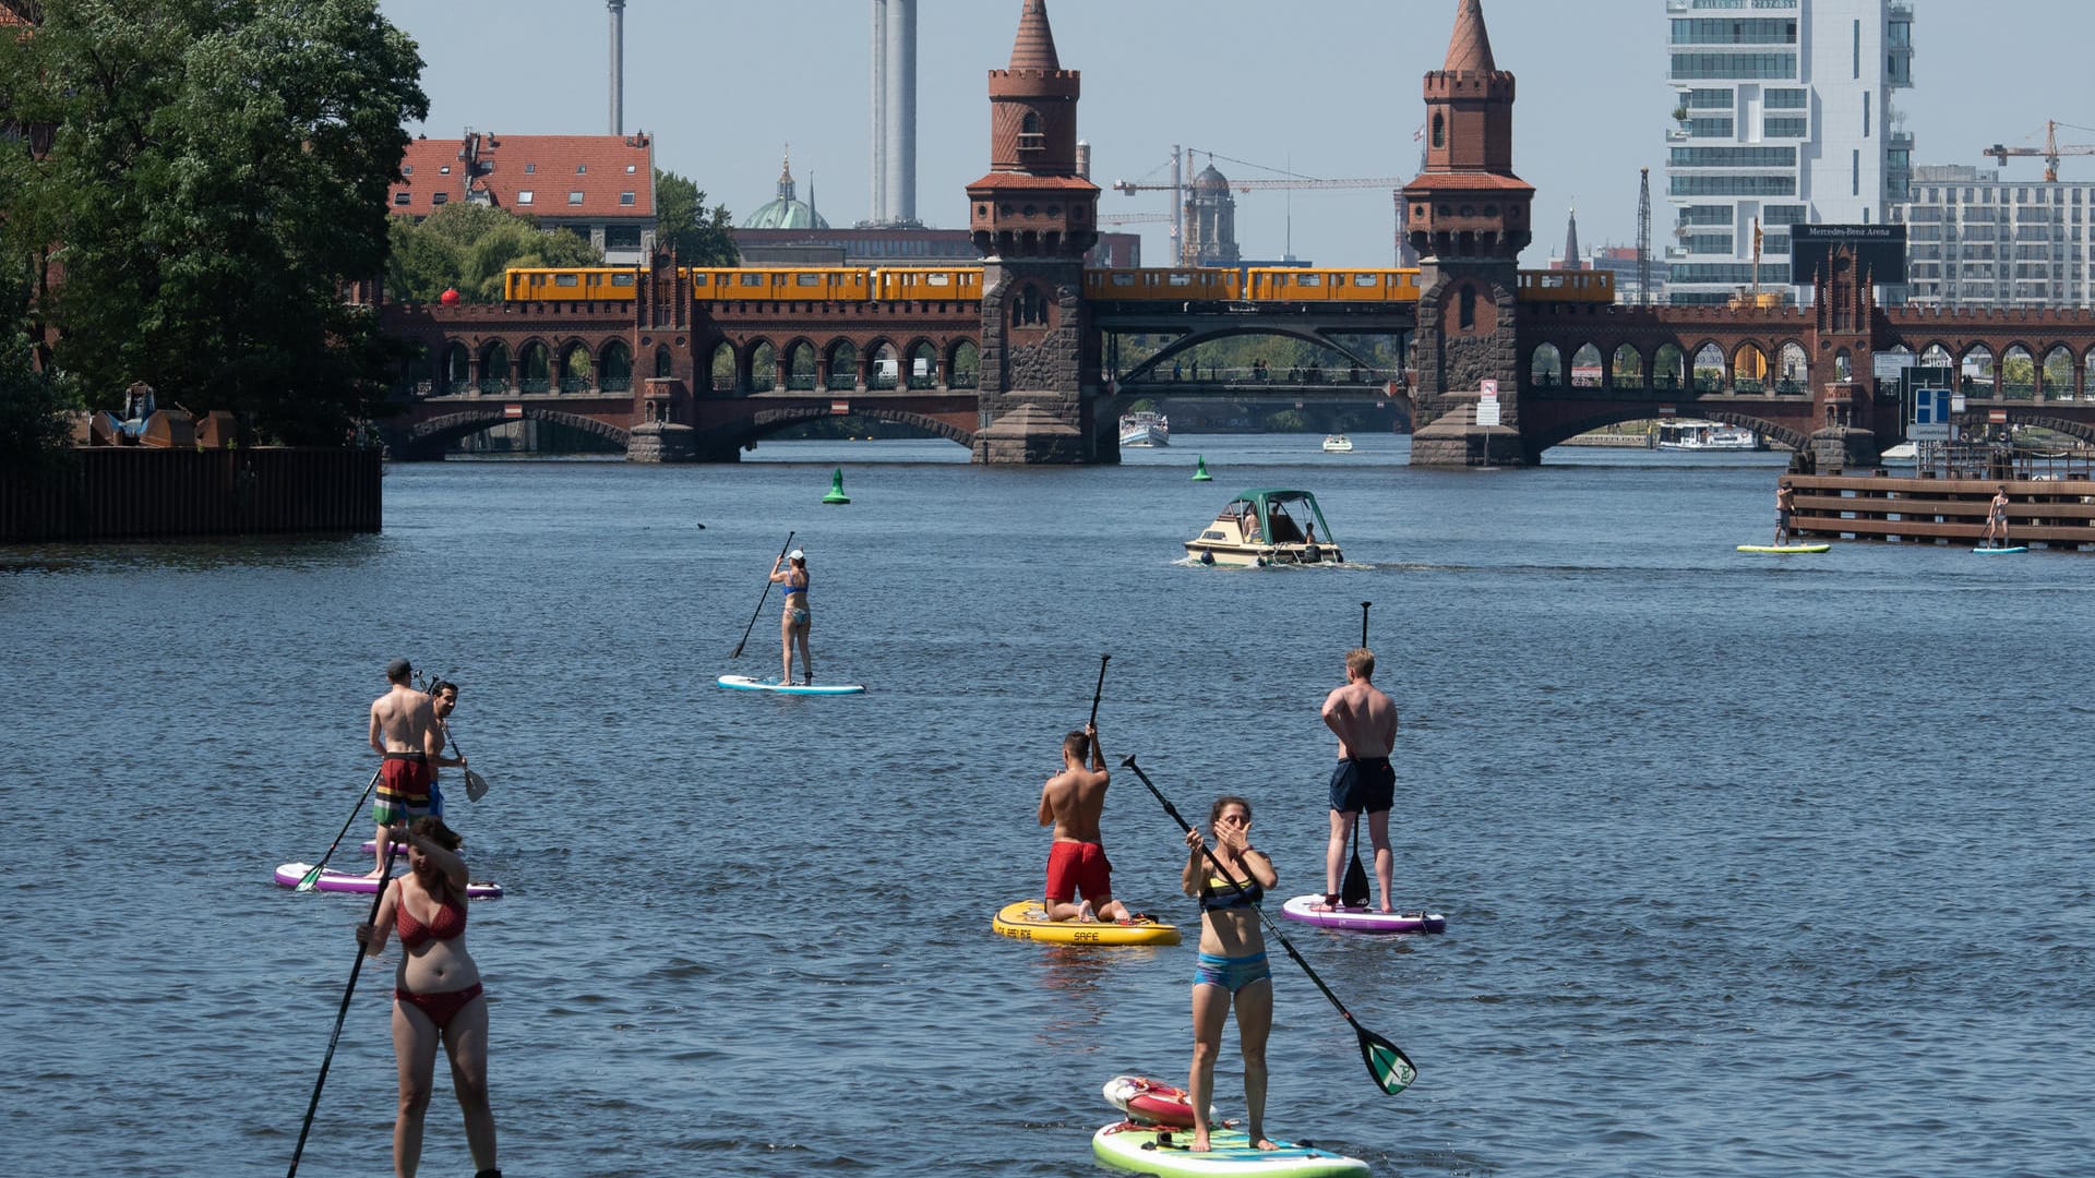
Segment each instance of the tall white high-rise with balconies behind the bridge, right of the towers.
M1892 90L1913 86L1911 4L1666 0L1666 25L1668 302L1785 289L1791 224L1877 224L1906 199Z

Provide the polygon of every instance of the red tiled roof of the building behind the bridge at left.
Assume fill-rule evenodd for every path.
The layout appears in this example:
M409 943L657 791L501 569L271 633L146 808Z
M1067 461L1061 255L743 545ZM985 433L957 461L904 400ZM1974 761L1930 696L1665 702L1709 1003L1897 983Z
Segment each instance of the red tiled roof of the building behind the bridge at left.
M652 222L656 216L654 140L645 134L473 132L465 138L417 138L406 145L400 172L385 193L385 210L396 214L429 216L442 208L438 193L444 203L463 201L471 180L494 208L538 218Z

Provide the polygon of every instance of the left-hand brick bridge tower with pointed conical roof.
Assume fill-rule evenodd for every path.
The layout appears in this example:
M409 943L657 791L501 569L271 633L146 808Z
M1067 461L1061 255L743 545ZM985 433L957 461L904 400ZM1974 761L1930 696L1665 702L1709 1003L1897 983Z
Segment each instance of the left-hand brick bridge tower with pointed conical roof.
M1098 184L1077 168L1079 73L1062 69L1048 0L1024 0L1010 69L989 71L989 174L968 184L983 254L978 463L1117 457L1098 426L1098 335L1083 254L1098 241Z

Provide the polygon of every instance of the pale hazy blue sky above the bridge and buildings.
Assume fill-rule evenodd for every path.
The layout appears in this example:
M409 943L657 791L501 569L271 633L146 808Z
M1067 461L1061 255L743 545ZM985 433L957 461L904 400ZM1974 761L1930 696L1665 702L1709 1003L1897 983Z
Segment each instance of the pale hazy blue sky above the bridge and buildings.
M1992 143L2038 145L2045 119L2095 128L2080 65L2095 42L2085 0L1911 0L1911 90L1892 96L1915 163L1990 168ZM603 0L381 0L425 61L429 122L509 134L610 128ZM1010 61L1020 0L918 4L918 216L966 224L964 187L989 170L987 71ZM1420 80L1448 54L1456 0L1052 0L1064 69L1083 71L1079 136L1104 212L1163 212L1165 193L1115 180L1169 178L1171 145L1232 180L1418 172ZM1536 243L1563 249L1575 203L1580 243L1636 243L1638 168L1651 168L1653 247L1663 245L1666 0L1483 0L1492 52L1519 80L1515 170L1536 187ZM629 0L624 130L656 136L656 163L693 178L740 222L771 199L792 145L800 197L830 224L872 212L869 0ZM2041 52L2061 46L2057 52ZM2095 130L2059 130L2095 143ZM1232 163L1230 159L1249 161ZM1203 155L1200 166L1207 163ZM2038 159L2005 176L2036 180ZM2095 180L2095 155L2061 161ZM1393 264L1387 189L1255 191L1236 197L1247 258L1293 241L1324 264ZM1165 224L1144 258L1167 258Z

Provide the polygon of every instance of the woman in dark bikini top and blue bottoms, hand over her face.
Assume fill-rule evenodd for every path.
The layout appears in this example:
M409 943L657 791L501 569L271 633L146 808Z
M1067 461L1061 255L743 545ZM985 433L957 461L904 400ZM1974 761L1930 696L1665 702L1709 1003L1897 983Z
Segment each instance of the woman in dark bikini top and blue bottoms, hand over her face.
M1221 1029L1236 1006L1236 1033L1244 1050L1244 1117L1255 1149L1274 1149L1265 1136L1265 1038L1274 1029L1274 975L1265 964L1259 899L1280 882L1274 861L1251 845L1251 803L1223 794L1207 813L1215 845L1200 828L1186 832L1186 895L1200 899L1200 964L1192 973L1192 1151L1205 1151L1207 1105L1215 1094L1215 1056ZM1209 861L1203 847L1213 851ZM1226 876L1215 874L1221 866ZM1230 885L1234 878L1238 887Z

